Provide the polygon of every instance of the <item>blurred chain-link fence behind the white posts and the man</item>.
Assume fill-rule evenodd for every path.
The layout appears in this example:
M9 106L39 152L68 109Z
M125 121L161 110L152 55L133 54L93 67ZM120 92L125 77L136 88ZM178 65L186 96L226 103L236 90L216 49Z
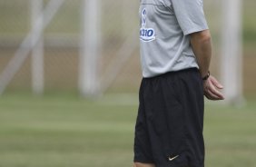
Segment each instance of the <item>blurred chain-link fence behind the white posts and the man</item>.
M44 8L51 0L44 0ZM44 90L77 90L79 81L79 54L82 35L82 15L84 0L65 0L56 11L49 25L44 29ZM101 54L98 62L98 78L103 90L111 92L137 91L141 79L141 67L138 37L138 5L139 1L99 0L101 11ZM0 74L14 58L25 37L32 30L31 0L0 0ZM212 58L212 73L219 74L220 39L222 31L222 1L208 0L204 2L205 13L212 30L214 54ZM255 33L251 22L254 19L252 0L244 1L245 11L244 31L246 44L255 44ZM244 7L245 8L245 7ZM254 12L254 13L253 13ZM254 21L253 21L254 22ZM254 22L255 23L255 22ZM256 26L254 26L255 28ZM248 34L247 34L248 33ZM253 37L254 35L254 37ZM132 37L131 37L132 36ZM135 44L135 46L134 46ZM132 46L133 45L133 46ZM250 48L250 49L248 49ZM255 50L245 47L249 61L245 69L245 86L247 90L255 89L247 78L255 65ZM248 52L247 52L248 51ZM128 54L127 54L128 53ZM123 57L124 55L124 57ZM255 54L254 54L255 55ZM249 57L249 58L248 58ZM247 64L246 62L246 64ZM25 57L25 62L17 70L8 90L30 90L32 86L31 52Z

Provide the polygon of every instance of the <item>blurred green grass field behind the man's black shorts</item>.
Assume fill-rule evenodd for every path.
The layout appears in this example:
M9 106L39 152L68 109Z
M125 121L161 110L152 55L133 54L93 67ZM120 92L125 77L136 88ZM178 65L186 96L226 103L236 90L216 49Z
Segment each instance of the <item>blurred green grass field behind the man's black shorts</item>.
M207 103L207 167L255 167L256 100ZM131 167L136 94L0 98L0 167Z

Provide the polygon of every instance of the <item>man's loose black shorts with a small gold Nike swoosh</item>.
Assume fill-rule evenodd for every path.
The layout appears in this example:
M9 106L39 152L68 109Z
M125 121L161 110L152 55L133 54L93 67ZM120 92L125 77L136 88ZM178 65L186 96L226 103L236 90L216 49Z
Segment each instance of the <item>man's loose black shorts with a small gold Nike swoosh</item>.
M134 162L203 167L203 87L196 68L143 78Z

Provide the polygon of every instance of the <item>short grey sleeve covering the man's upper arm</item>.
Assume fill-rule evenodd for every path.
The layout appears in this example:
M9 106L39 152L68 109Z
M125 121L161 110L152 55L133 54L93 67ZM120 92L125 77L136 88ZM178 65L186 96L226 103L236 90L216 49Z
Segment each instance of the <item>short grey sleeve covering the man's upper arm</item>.
M171 0L174 14L184 35L207 30L202 0Z

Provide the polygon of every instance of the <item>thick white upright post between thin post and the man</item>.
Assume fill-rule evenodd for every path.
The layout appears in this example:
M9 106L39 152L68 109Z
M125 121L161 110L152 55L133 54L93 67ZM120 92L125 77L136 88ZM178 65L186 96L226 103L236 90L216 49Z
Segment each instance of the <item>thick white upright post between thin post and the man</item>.
M84 0L82 7L82 38L79 61L79 89L84 97L99 94L99 56L101 53L100 0Z

